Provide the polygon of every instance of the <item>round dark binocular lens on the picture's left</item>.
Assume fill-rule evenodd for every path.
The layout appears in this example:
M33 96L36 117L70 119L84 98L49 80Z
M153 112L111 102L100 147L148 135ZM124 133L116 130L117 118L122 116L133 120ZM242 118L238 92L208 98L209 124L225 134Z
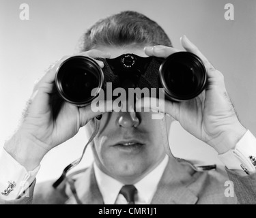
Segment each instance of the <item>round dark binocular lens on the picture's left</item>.
M94 88L101 88L104 76L102 69L93 59L83 56L71 57L64 61L56 75L56 87L63 99L72 104L84 106L94 99Z

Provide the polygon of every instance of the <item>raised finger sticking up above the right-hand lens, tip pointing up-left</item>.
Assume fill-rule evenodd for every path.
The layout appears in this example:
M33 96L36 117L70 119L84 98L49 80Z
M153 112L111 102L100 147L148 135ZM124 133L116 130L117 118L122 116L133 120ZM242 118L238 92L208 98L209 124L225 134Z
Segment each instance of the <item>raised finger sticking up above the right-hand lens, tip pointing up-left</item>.
M197 46L195 46L195 44L193 44L192 42L190 42L190 40L188 40L188 37L186 37L186 35L183 35L180 38L180 41L181 41L183 48L187 52L191 52L191 53L197 55L203 61L204 65L208 69L214 69L214 66L210 63L210 61L208 61L208 59L201 53L201 51L197 48Z

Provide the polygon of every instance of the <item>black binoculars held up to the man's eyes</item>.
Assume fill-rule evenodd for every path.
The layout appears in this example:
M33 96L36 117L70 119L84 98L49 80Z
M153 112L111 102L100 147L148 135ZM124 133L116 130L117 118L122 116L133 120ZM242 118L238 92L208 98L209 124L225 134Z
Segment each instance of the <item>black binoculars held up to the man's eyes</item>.
M106 89L164 88L165 97L173 102L184 102L197 97L208 80L203 61L190 52L176 52L162 59L121 55L102 59L103 69L95 59L74 56L63 61L57 69L55 84L62 99L76 106L86 106Z

